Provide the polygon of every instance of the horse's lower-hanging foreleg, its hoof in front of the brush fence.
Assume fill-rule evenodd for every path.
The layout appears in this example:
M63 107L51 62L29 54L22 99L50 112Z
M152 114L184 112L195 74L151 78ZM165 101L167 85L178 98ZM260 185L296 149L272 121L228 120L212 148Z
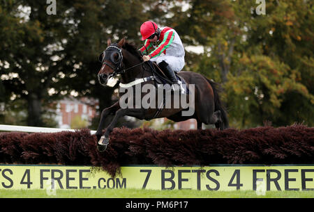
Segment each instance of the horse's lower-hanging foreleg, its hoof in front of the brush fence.
M128 109L128 108L127 109L119 109L117 111L116 115L114 115L112 122L107 127L105 134L103 136L101 136L101 138L98 142L98 150L99 151L105 151L105 149L107 148L107 145L109 144L109 134L113 131L114 127L117 125L117 122L118 122L120 117L123 117L124 115L138 117L138 116L142 115L142 113L143 113L143 111L139 110L139 109ZM144 114L142 116L144 116ZM100 147L100 146L102 146L102 147Z

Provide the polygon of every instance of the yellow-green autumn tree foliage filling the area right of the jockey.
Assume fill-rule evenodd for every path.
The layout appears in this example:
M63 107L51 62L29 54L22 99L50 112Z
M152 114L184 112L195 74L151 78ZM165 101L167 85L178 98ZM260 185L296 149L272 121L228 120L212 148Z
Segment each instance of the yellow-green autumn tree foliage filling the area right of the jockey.
M232 126L313 125L310 1L267 1L266 15L252 1L188 2L178 26L204 48L190 70L222 83Z

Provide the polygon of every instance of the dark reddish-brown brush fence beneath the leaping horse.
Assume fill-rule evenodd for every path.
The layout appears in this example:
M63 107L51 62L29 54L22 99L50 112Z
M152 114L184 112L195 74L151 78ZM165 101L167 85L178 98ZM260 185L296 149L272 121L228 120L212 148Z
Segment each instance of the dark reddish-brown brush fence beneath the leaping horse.
M236 130L114 129L105 152L88 129L0 133L0 163L93 165L114 176L121 165L313 164L314 128Z

